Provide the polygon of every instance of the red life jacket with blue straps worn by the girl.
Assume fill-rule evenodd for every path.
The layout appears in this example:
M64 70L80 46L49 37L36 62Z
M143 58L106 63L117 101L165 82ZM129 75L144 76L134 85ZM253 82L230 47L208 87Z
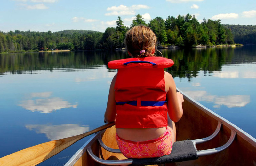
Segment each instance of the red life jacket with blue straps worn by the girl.
M163 57L110 61L118 69L115 83L116 128L167 126L164 68L173 65Z

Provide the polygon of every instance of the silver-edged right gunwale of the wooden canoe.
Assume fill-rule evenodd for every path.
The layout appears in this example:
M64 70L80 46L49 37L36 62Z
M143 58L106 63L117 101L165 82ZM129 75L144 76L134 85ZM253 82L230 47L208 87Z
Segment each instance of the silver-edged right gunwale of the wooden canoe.
M247 142L249 142L252 146L256 147L256 139L253 138L250 134L248 134L247 132L243 131L241 128L237 127L235 124L229 122L227 119L219 116L218 114L216 114L215 112L213 112L212 110L206 108L205 106L203 106L202 104L200 104L199 102L195 101L194 99L192 99L191 97L189 97L187 94L185 94L184 92L182 92L180 89L176 88L177 91L179 91L181 94L183 94L184 99L186 99L188 102L192 103L194 106L196 106L197 108L199 108L200 110L202 110L204 113L206 113L207 115L213 117L214 119L216 119L217 121L220 121L222 123L222 125L227 126L230 130L234 130L236 132L237 135L239 135L240 137L242 137L244 140L246 140Z

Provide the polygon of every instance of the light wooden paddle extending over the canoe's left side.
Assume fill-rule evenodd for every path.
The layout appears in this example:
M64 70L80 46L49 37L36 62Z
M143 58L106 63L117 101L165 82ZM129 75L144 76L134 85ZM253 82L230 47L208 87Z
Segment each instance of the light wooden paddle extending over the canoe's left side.
M45 142L0 158L0 166L35 166L66 149L76 141L115 125L111 122L80 135Z

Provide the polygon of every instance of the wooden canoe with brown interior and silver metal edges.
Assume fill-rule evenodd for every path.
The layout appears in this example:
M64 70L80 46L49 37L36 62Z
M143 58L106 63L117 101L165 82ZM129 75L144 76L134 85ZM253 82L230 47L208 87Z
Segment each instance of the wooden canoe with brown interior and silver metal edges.
M189 139L200 142L203 140L203 143L196 144L196 150L199 154L198 159L165 163L165 165L256 165L255 138L205 108L186 94L182 94L184 96L184 102L182 104L183 116L180 121L176 123L176 141ZM132 159L125 160L126 158L122 154L109 152L103 148L107 146L108 148L118 149L115 134L115 126L100 133L96 133L72 156L65 166L131 164ZM100 138L104 145L99 143ZM220 150L223 147L224 149ZM202 155L204 151L207 151L207 153L210 151L210 153L208 155ZM216 153L216 151L218 152ZM91 154L94 154L96 158L104 161L103 164L92 159Z

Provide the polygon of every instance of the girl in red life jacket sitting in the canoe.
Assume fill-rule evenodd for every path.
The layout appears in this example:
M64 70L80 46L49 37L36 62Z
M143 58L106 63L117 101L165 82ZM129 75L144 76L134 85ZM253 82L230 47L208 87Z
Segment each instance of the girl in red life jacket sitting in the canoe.
M105 121L116 120L116 141L127 158L169 155L174 122L183 114L183 96L164 71L173 61L155 55L156 42L149 27L134 26L124 40L131 58L108 63L118 73L110 85Z

